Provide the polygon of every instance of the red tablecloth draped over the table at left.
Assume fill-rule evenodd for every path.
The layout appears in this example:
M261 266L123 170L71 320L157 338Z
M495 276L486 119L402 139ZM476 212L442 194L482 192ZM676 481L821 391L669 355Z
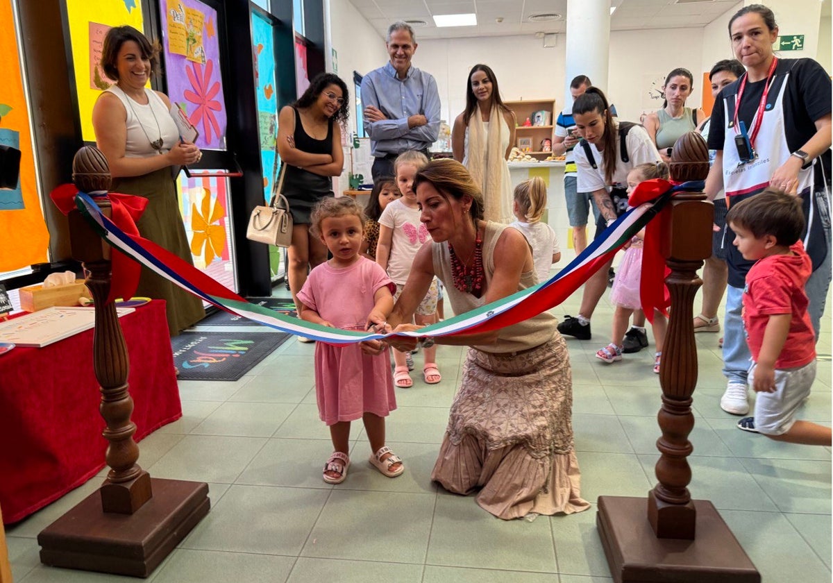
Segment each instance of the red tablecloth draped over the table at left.
M119 318L130 356L136 441L182 416L165 302ZM92 372L92 329L0 356L0 506L11 524L104 466L107 441ZM141 465L142 459L139 459Z

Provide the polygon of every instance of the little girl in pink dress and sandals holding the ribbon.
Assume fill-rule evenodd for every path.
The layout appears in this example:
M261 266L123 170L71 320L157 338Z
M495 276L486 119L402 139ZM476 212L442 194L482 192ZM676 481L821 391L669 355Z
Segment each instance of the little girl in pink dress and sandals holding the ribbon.
M361 208L349 197L325 198L312 212L312 232L332 259L315 267L298 291L303 320L365 330L370 317L385 321L390 315L396 287L382 267L359 254L364 224ZM318 413L335 449L324 465L324 481L340 484L347 477L350 424L357 419L367 431L372 466L388 477L402 474L402 460L385 446L385 417L397 408L388 350L371 356L359 344L317 342L315 385Z

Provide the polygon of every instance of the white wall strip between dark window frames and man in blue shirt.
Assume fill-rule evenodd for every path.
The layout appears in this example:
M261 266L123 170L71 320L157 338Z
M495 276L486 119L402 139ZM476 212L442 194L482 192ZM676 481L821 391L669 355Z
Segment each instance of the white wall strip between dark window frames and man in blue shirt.
M347 83L350 92L350 133L356 131L356 94L353 91L353 71L364 75L387 62L385 39L379 36L370 22L353 7L349 0L328 0L330 5L330 37L336 49L338 76ZM329 56L327 57L329 58Z

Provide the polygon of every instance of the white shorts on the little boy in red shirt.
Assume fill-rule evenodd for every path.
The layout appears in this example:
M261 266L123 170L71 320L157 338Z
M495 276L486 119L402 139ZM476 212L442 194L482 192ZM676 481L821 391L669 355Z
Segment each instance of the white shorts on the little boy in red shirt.
M749 369L749 386L755 384L755 367ZM755 394L755 428L759 433L781 436L796 422L796 411L810 395L816 380L816 361L798 368L776 369L776 391Z

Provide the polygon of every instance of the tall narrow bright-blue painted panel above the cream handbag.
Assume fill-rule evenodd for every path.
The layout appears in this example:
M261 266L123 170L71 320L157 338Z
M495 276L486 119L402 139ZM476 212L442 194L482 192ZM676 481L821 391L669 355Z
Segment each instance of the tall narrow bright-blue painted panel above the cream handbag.
M272 197L280 161L277 159L277 92L272 23L252 11L252 54L255 59L257 121L260 130L263 197Z

